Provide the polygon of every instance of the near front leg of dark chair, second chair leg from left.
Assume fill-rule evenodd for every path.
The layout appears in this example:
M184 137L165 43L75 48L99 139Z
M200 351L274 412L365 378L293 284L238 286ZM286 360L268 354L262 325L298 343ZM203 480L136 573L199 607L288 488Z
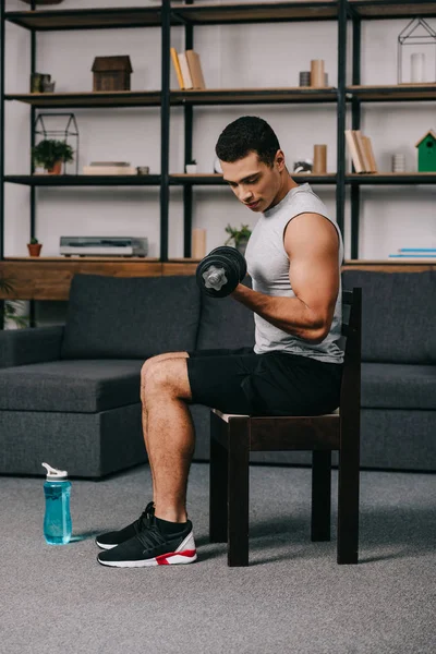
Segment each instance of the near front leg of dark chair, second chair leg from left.
M229 423L228 565L249 565L250 419Z

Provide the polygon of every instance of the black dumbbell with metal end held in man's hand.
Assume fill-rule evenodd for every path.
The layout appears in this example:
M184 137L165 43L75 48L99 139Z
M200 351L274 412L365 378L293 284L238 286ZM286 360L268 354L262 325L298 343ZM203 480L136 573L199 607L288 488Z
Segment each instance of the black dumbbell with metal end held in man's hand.
M201 290L211 298L226 298L246 275L246 262L235 247L216 247L197 266Z

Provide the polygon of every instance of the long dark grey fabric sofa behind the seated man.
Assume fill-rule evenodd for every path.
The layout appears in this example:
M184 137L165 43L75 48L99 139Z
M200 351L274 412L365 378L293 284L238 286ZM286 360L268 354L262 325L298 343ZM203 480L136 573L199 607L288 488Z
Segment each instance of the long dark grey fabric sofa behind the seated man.
M244 281L250 286L250 279ZM363 289L362 467L436 469L436 274L344 270ZM254 343L253 314L202 295L194 277L76 275L63 326L0 331L0 474L99 479L146 460L140 371L168 351ZM191 407L195 460L209 410ZM308 452L253 461L310 463Z

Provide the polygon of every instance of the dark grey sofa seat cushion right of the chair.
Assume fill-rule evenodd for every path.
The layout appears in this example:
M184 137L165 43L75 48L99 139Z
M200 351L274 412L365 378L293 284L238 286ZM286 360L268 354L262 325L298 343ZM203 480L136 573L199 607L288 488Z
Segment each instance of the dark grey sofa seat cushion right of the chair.
M436 365L362 363L362 408L434 410L435 398Z

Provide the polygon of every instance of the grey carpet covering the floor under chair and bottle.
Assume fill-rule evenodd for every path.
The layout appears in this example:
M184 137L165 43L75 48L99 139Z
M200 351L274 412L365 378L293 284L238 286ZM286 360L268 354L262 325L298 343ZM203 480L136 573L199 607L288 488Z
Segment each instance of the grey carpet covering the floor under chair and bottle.
M43 538L43 479L0 477L0 652L433 654L435 476L362 472L358 566L336 564L336 526L311 543L310 488L308 469L252 467L251 566L228 568L226 546L208 543L208 465L196 463L197 562L111 569L94 535L137 518L147 465L73 480L74 541L57 547Z

